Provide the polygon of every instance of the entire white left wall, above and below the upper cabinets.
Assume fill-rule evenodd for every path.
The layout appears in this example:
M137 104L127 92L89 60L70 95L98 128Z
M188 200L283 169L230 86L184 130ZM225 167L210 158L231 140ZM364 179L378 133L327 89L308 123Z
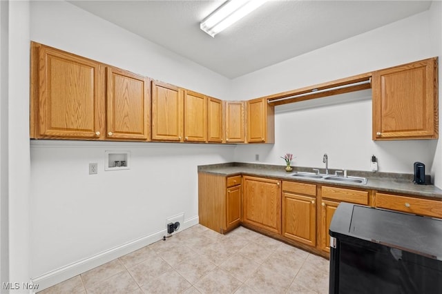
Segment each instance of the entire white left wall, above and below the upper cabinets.
M30 7L33 41L228 98L228 79L70 3ZM105 150L130 150L131 169L105 172ZM233 161L233 153L209 144L32 141L32 278L50 286L156 241L179 213L198 223L197 166ZM98 175L88 175L90 162Z

